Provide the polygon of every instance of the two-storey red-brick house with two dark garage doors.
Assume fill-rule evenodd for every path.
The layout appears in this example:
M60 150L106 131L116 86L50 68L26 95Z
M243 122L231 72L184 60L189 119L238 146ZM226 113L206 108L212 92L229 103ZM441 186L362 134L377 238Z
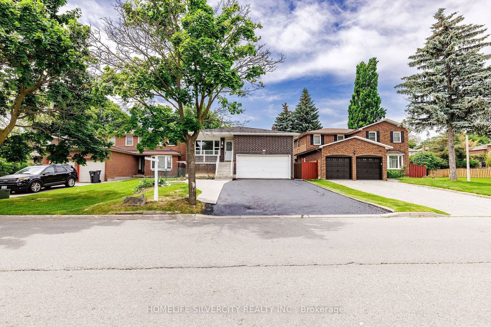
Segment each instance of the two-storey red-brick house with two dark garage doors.
M387 179L409 164L408 126L383 119L357 128L322 128L295 138L296 161L317 162L321 179ZM405 175L409 169L404 168Z

